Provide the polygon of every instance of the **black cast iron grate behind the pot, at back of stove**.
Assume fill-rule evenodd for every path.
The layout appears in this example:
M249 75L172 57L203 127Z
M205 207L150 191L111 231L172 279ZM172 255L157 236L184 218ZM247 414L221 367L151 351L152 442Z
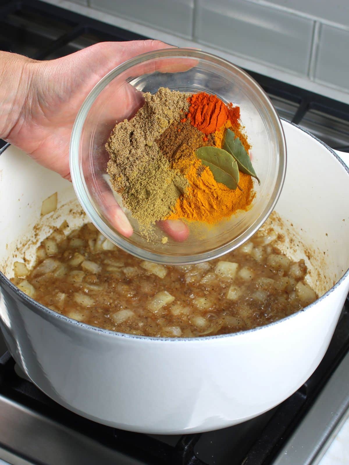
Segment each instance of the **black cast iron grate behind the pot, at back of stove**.
M105 40L146 39L40 0L0 0L0 50L48 60ZM279 116L334 149L349 152L349 105L246 70L268 93Z

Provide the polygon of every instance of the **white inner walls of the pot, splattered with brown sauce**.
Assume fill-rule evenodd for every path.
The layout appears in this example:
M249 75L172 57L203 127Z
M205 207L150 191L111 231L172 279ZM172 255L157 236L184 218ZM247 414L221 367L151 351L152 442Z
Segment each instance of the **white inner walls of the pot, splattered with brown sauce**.
M309 284L322 295L349 267L349 173L336 157L308 134L283 123L288 148L285 184L268 219L282 233L282 250L305 259ZM53 226L67 219L70 229L88 221L73 186L10 146L0 156L0 271L13 277L13 262L31 266L35 249ZM40 216L44 199L58 193L58 208Z

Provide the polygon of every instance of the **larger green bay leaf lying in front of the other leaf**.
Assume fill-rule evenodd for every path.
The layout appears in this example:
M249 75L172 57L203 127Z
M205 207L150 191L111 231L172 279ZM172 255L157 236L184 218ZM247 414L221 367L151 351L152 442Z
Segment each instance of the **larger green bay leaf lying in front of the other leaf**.
M196 150L197 158L208 166L217 182L229 189L239 187L239 168L234 157L226 150L217 147L200 147ZM240 190L242 190L239 187Z

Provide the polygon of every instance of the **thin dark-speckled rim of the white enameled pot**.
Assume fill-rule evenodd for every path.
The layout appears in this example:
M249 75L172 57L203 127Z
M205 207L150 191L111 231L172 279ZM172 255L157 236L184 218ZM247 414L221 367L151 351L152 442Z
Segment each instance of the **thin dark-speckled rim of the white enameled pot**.
M331 153L340 162L340 164L345 168L346 172L349 175L349 167L336 154L336 152L333 149L331 149L331 147L329 147L327 144L325 144L325 142L318 139L313 134L309 133L306 129L301 128L300 126L296 125L295 123L292 123L292 122L290 122L288 120L285 120L284 118L281 118L281 120L283 122L286 122L287 124L289 124L291 126L295 126L297 129L303 131L304 133L308 134L310 137L315 139L317 142L319 142L323 147L325 147L329 151L329 153ZM4 147L2 147L0 149L0 155L1 155L1 153L3 153L5 151L5 149L7 149L8 146L10 146L10 144L6 144ZM270 328L272 326L285 323L289 319L295 318L295 317L299 316L300 314L302 314L303 312L309 311L318 302L326 299L348 277L349 277L349 268L343 274L342 278L339 279L336 282L336 284L334 286L332 286L327 292L325 292L319 299L316 299L315 302L313 302L309 306L304 307L304 309L299 310L298 312L292 313L291 315L289 315L289 316L287 316L287 317L285 317L283 319L273 321L272 323L269 323L268 325L257 326L256 328L248 329L248 330L245 330L245 331L232 332L232 333L228 333L228 334L218 334L218 335L215 335L215 336L203 336L203 337L197 337L197 338L157 338L157 337L154 337L154 336L141 336L141 335L135 335L135 334L127 334L127 333L123 333L123 332L116 332L116 331L110 331L110 330L103 329L103 328L98 328L97 326L90 326L90 325L87 325L86 323L81 323L80 321L76 321L74 319L68 318L65 315L61 315L60 313L54 312L53 310L50 310L49 308L43 306L42 304L40 304L36 300L32 299L31 297L28 297L27 294L25 294L17 286L15 286L2 272L0 272L0 283L4 284L6 286L9 286L10 289L13 292L17 293L20 298L22 298L24 300L27 300L28 303L32 307L31 309L36 310L37 313L44 312L49 317L53 317L55 319L60 319L60 320L64 321L65 323L67 323L68 325L74 324L75 326L79 326L84 331L100 332L102 334L105 334L108 337L113 337L113 338L117 338L117 339L124 338L124 339L132 339L132 340L136 339L136 340L139 340L139 341L146 340L146 341L149 341L149 342L171 342L173 344L179 344L181 342L186 342L186 343L191 342L191 343L195 344L195 343L198 343L200 341L208 341L208 340L209 341L215 341L217 339L236 338L236 337L239 337L239 336L243 337L243 336L249 335L249 334L251 334L253 332L261 331L263 328Z

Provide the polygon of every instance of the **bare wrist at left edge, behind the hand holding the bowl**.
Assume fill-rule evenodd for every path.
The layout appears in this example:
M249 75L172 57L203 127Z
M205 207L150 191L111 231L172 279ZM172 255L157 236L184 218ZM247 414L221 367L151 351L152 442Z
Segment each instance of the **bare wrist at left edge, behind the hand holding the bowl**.
M14 142L30 105L35 61L15 53L0 52L0 138Z

